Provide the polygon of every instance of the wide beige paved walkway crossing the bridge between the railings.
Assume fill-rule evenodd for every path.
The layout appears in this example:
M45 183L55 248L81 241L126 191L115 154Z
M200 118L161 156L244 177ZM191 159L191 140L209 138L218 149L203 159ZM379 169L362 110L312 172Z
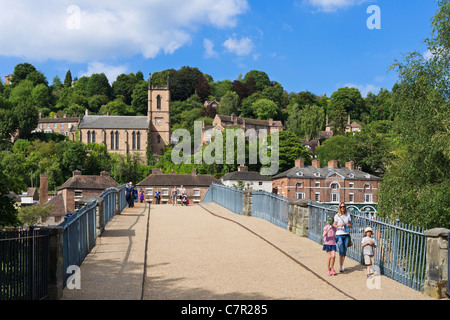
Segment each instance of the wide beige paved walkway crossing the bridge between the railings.
M350 259L328 277L325 259L319 244L216 204L139 204L111 220L81 266L81 290L63 299L427 299L384 276L370 289Z

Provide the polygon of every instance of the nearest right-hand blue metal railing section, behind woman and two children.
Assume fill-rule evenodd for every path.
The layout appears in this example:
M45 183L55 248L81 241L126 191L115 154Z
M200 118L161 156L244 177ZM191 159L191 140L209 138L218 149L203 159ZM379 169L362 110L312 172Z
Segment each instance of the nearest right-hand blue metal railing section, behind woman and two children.
M322 244L322 230L326 220L337 211L312 202L308 205L308 238ZM348 248L347 256L363 263L361 240L365 228L371 227L373 238L378 244L375 249L375 265L380 268L381 274L421 291L426 275L427 239L424 229L364 213L349 214L352 220L350 235L354 245Z

